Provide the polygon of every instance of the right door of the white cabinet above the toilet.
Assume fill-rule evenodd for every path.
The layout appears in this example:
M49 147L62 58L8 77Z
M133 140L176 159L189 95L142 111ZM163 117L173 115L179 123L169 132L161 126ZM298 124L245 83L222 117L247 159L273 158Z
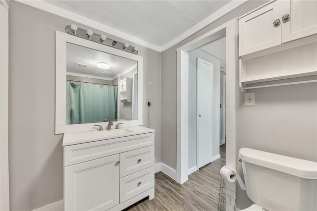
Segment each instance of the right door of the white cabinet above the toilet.
M283 0L283 16L282 43L317 34L317 0Z

